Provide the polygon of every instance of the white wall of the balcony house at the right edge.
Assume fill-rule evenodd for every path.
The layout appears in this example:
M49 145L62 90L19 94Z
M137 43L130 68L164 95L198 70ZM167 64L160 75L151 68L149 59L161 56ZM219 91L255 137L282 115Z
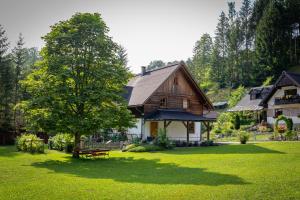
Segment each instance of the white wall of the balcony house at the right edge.
M284 90L288 89L297 89L297 93L300 95L300 88L296 86L287 86L278 89L274 95L268 101L268 111L267 111L267 123L274 124L276 119L273 118L275 116L275 109L282 109L282 114L291 118L294 124L300 124L300 104L285 104L285 105L275 105L275 98L280 98L284 96Z

